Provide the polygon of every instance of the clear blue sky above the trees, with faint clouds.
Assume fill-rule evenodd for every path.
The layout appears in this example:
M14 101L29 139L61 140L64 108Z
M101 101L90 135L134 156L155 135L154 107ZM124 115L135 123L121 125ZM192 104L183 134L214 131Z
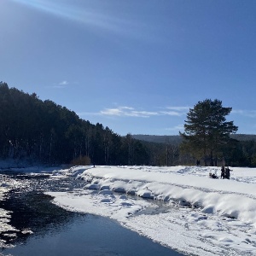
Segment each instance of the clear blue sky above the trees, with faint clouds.
M256 1L0 0L0 81L119 135L177 135L207 98L256 134Z

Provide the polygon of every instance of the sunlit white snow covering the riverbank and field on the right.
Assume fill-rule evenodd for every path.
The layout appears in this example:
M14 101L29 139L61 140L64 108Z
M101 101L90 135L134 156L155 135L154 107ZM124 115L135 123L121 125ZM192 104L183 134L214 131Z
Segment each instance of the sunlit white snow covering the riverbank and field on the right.
M208 178L219 169L77 166L53 177L84 179L84 189L48 194L61 207L116 219L182 253L256 255L256 169Z

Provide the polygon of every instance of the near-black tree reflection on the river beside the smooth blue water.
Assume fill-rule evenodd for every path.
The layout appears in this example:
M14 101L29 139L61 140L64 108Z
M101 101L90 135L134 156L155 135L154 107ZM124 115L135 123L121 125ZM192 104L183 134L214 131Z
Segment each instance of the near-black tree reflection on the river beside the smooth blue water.
M49 230L58 232L62 224L74 218L75 213L56 207L50 203L51 199L49 195L38 191L9 196L3 202L3 207L12 211L9 224L20 231L32 230L37 235ZM17 233L15 242L24 242L27 235L29 232Z

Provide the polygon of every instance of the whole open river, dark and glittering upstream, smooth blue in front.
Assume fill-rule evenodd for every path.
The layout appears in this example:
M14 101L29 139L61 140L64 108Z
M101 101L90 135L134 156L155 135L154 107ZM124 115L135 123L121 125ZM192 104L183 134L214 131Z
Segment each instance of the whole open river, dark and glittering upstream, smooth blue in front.
M32 234L20 231L10 231L9 236L6 232L0 234L0 239L6 241L0 255L183 255L125 229L110 218L68 212L44 195L49 190L80 188L84 185L81 181L15 172L5 172L0 178L2 182L4 179L6 183L15 183L5 200L0 201L2 209L12 212L9 224L17 230L32 230Z

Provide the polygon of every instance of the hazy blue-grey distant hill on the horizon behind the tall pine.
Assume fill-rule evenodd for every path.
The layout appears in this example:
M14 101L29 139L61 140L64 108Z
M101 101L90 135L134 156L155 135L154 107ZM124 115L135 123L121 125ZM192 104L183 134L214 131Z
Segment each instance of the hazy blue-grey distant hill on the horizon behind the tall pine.
M178 145L182 142L182 137L179 135L143 135L134 134L133 138L145 141L148 143L164 143ZM253 134L232 134L230 137L238 141L256 141L256 135Z

